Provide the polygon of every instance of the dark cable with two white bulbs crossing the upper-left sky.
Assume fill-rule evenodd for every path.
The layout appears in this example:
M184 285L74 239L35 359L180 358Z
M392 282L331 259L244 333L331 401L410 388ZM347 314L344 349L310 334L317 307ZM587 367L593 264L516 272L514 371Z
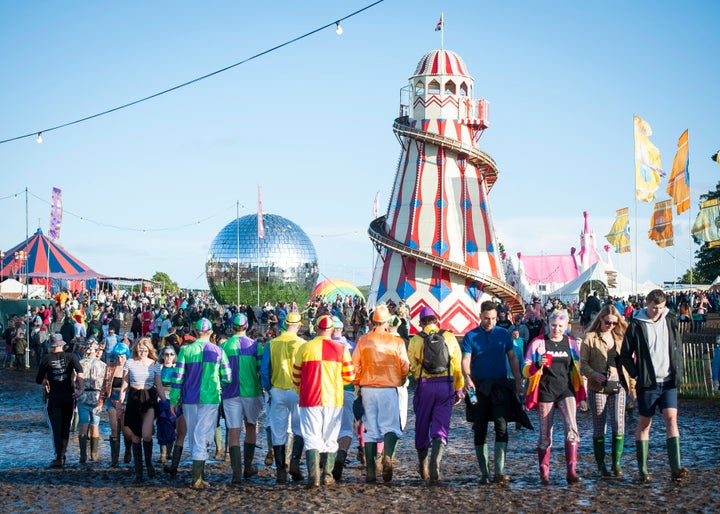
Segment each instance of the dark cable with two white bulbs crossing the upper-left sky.
M143 103L143 102L147 102L148 100L152 100L152 99L154 99L154 98L157 98L157 97L159 97L159 96L162 96L162 95L171 93L171 92L173 92L173 91L177 91L178 89L182 89L182 88L184 88L184 87L187 87L187 86L190 86L190 85L195 84L195 83L197 83L197 82L200 82L201 80L205 80L205 79L208 79L208 78L210 78L210 77L214 77L215 75L219 75L220 73L224 73L224 72L226 72L226 71L228 71L228 70L231 70L231 69L233 69L233 68L236 68L236 67L238 67L238 66L240 66L240 65L242 65L242 64L245 64L245 63L250 62L250 61L252 61L252 60L254 60L254 59L257 59L257 58L262 57L262 56L264 56L264 55L267 55L267 54L269 54L269 53L271 53L271 52L274 52L274 51L276 51L276 50L279 50L279 49L281 49L281 48L283 48L283 47L286 47L286 46L291 45L291 44L293 44L293 43L297 43L298 41L300 41L300 40L302 40L302 39L305 39L305 38L307 38L307 37L310 37L310 36L312 36L313 34L316 34L316 33L318 33L318 32L321 32L321 31L323 31L323 30L325 30L325 29L327 29L327 28L329 28L329 27L334 27L334 28L335 28L335 33L336 33L338 36L340 36L340 35L342 35L342 33L343 33L343 29L342 29L342 27L340 26L340 22L341 22L341 21L344 21L344 20L347 20L347 19L349 19L349 18L352 18L353 16L357 16L358 14L360 14L360 13L362 13L362 12L364 12L364 11L367 11L367 10L370 9L371 7L375 7L376 5L378 5L378 4L380 4L380 3L384 2L384 1L385 1L385 0L377 0L376 2L373 2L373 3L370 4L370 5L366 5L365 7L361 8L361 9L358 9L358 10L355 11L355 12L352 12L352 13L346 15L346 16L343 16L342 18L339 18L339 19L337 19L337 20L334 20L334 21L332 21L332 22L330 22L330 23L326 23L326 24L323 25L322 27L318 27L318 28L316 28L316 29L314 29L314 30L311 30L310 32L306 32L305 34L303 34L303 35L301 35L301 36L297 36L297 37L295 37L295 38L293 38L293 39L290 39L290 40L288 40L288 41L285 41L284 43L280 43L279 45L275 45L275 46L273 46L272 48L269 48L269 49L264 50L264 51L262 51L262 52L260 52L260 53L257 53L257 54L255 54L255 55L252 55L252 56L250 56L250 57L248 57L248 58L246 58L246 59L243 59L242 61L236 62L235 64L231 64L231 65L229 65L229 66L226 66L226 67L221 68L221 69L219 69L219 70L213 71L213 72L211 72L211 73L207 73L207 74L205 74L205 75L202 75L201 77L197 77L197 78L194 78L194 79L192 79L192 80L188 80L187 82L183 82L182 84L178 84L178 85L176 85L176 86L172 86L172 87L170 87L170 88L168 88L168 89L164 89L163 91L160 91L160 92L151 94L151 95L146 96L146 97L144 97L144 98L140 98L140 99L138 99L138 100L134 100L134 101L132 101L132 102L128 102L128 103L126 103L126 104L119 105L119 106L117 106L117 107L113 107L113 108L111 108L111 109L107 109L107 110L105 110L105 111L98 112L98 113L96 113L96 114L91 114L91 115L89 115L89 116L85 116L85 117L83 117L83 118L80 118L80 119L77 119L77 120L74 120L74 121L69 121L69 122L63 123L63 124L61 124L61 125L56 125L56 126L54 126L54 127L48 127L48 128L44 128L44 129L41 129L41 130L35 130L35 131L33 131L33 132L29 132L29 133L23 134L23 135L21 135L21 136L15 136L15 137L10 137L10 138L7 138L7 139L3 139L3 140L0 141L0 144L10 143L11 141L18 141L18 140L20 140L20 139L25 139L25 138L28 138L28 137L35 137L38 143L42 143L42 141L43 141L43 134L47 134L48 132L52 132L52 131L54 131L54 130L59 130L59 129L62 129L62 128L66 128L66 127L69 127L69 126L72 126L72 125L77 125L78 123L83 123L83 122L85 122L85 121L89 121L89 120L92 120L92 119L94 119L94 118L99 118L99 117L101 117L101 116L106 116L106 115L108 115L108 114L111 114L111 113L113 113L113 112L119 111L119 110L121 110L121 109L127 109L128 107L132 107L132 106L134 106L134 105L137 105L137 104L140 104L140 103Z

